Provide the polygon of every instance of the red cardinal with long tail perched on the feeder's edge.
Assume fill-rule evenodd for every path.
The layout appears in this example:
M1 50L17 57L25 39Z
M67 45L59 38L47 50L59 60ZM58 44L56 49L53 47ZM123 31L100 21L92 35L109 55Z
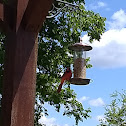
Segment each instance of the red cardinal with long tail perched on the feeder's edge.
M65 80L69 81L71 77L72 77L72 72L71 72L70 68L68 67L66 69L66 72L63 74L63 76L61 78L61 83L60 83L58 90L57 90L58 93L61 91L61 88L62 88L64 81Z

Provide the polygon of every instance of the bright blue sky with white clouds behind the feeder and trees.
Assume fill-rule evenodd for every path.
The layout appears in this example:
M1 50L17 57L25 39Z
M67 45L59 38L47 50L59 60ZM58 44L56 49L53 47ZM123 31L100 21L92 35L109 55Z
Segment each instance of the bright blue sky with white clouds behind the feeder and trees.
M110 104L110 94L126 89L126 0L86 0L86 9L93 10L106 17L106 31L100 42L90 44L93 50L88 52L93 67L87 69L87 78L91 83L86 86L71 85L77 93L77 99L84 108L91 108L91 118L79 122L78 126L97 126L99 119L104 118L104 107ZM88 43L87 35L82 35ZM74 118L62 116L62 109L57 113L49 107L50 116L43 116L40 122L47 126L75 126Z

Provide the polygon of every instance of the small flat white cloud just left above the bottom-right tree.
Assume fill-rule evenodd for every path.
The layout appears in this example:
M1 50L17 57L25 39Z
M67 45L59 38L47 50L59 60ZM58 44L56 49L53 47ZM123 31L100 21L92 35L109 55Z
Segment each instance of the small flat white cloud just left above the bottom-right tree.
M99 106L105 105L105 103L102 100L102 98L92 99L92 100L89 101L89 104L91 106L95 106L95 107L99 107Z

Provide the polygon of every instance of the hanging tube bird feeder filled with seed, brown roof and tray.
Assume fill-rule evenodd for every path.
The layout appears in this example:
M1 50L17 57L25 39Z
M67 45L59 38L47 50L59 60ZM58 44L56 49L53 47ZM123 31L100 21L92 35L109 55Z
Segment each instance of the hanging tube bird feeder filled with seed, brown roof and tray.
M80 40L80 43L69 46L69 49L74 51L74 77L70 79L71 84L89 84L90 79L86 79L86 51L92 50L92 47Z

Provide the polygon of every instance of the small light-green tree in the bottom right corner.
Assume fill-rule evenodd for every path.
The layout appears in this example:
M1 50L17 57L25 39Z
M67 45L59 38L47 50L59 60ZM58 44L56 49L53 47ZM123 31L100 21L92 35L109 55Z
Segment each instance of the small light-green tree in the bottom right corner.
M113 100L106 106L105 119L100 120L99 126L126 126L126 90L114 92Z

